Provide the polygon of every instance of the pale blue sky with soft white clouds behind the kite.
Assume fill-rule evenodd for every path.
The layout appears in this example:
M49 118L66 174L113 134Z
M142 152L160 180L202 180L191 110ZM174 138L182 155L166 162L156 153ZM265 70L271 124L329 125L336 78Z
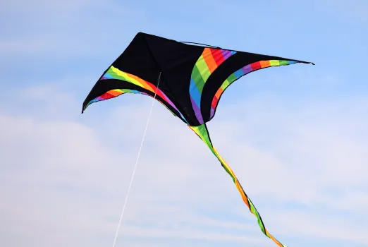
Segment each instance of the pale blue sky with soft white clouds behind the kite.
M137 32L312 61L237 80L208 123L286 246L368 246L368 2L0 2L0 244L112 246L152 98L82 102ZM116 246L276 246L154 104Z

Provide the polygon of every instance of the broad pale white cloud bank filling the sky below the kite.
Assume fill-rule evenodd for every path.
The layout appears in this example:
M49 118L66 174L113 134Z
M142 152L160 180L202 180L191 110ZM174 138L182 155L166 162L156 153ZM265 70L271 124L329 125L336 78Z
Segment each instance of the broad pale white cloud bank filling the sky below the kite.
M56 92L52 98L44 97L51 91ZM80 109L71 95L54 87L24 92L23 100L41 101L44 106L52 102L65 118L1 114L0 193L5 198L0 203L1 242L7 246L109 244L152 99L123 95L94 104L83 115L68 116L73 107ZM72 103L64 104L66 99ZM271 234L291 246L296 243L286 242L288 236L367 243L357 237L367 231L364 213L360 215L367 208L367 143L359 135L367 133L360 124L366 121L360 114L366 104L343 102L355 109L360 106L360 111L347 112L350 108L345 107L341 117L332 110L335 103L293 110L280 101L251 101L243 100L237 107L240 118L227 111L234 105L223 104L209 131ZM114 102L121 106L114 107ZM264 104L272 114L264 111ZM271 119L272 125L262 125ZM350 124L355 128L348 128ZM270 135L276 130L281 135ZM233 246L273 245L202 140L158 103L131 193L118 243L146 246L144 239L151 239L149 244L165 246L192 239L203 246L219 241ZM285 211L288 203L308 210ZM329 215L322 224L319 217L324 210ZM360 215L362 222L341 216L343 212Z

